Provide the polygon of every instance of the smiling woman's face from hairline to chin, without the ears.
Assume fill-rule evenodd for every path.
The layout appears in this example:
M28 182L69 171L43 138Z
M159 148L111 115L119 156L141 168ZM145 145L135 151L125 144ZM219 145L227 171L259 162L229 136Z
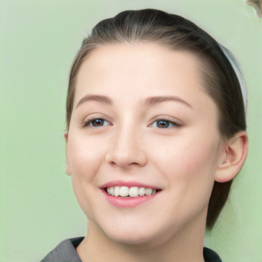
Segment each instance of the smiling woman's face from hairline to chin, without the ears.
M111 239L203 232L223 142L200 67L152 43L99 47L81 65L67 172L80 207Z

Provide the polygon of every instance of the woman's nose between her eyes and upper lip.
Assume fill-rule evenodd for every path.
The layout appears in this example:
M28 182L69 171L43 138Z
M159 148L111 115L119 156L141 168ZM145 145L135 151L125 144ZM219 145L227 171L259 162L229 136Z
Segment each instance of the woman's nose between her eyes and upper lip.
M106 162L121 168L145 166L147 155L141 140L138 132L119 130L110 142Z

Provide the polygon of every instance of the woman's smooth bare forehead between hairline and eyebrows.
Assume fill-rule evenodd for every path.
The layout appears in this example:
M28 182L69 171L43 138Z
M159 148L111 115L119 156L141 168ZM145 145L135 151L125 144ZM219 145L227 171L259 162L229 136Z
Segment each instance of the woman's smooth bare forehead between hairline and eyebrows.
M80 67L75 100L88 94L122 100L176 95L190 104L211 100L203 88L200 67L192 53L154 43L101 46Z

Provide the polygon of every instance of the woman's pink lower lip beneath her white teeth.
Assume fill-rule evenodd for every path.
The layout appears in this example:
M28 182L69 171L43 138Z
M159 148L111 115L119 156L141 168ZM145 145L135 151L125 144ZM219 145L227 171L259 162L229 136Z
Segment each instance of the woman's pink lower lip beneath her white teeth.
M121 208L132 208L136 207L138 205L144 204L156 197L156 195L159 193L151 194L151 195L142 195L142 197L137 197L137 198L122 198L122 197L114 197L113 195L107 194L103 189L102 189L103 194L105 195L106 200L114 205L115 207L121 207Z

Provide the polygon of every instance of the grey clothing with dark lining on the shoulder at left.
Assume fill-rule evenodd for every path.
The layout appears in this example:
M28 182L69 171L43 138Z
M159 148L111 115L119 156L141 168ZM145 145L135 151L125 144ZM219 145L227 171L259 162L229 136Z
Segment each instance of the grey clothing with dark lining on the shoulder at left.
M62 241L51 252L49 252L41 262L82 262L81 258L76 252L77 246L81 243L84 237L68 238Z

